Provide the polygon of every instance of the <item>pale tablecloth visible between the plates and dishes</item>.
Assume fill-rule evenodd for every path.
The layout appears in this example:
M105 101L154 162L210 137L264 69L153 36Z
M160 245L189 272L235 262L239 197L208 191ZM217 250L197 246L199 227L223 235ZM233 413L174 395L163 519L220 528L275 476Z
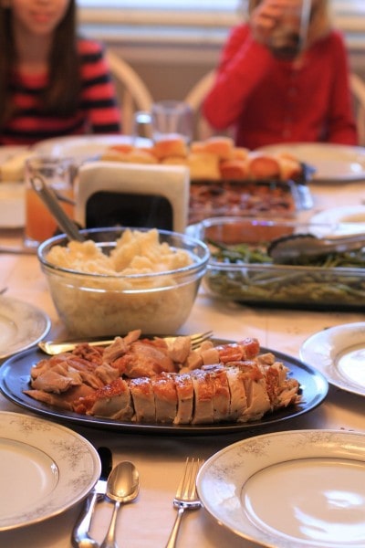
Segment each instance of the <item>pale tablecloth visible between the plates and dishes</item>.
M297 218L308 220L310 216L332 207L365 204L365 180L345 182L308 183L313 196L313 207L299 211ZM22 245L23 231L20 227L0 228L0 246ZM49 339L67 338L68 333L57 316L47 280L40 269L35 254L0 254L0 290L5 296L30 303L46 312L51 321L47 334ZM198 292L193 310L179 334L212 330L214 337L238 341L255 337L260 344L273 353L285 353L299 359L299 351L308 337L330 327L365 321L365 310L359 311L310 311L246 306L231 300L212 297L204 284ZM316 364L310 364L316 367ZM320 405L308 413L293 416L288 420L264 426L245 427L241 430L202 435L188 435L138 428L108 429L69 424L78 435L85 437L95 447L107 446L112 451L113 464L121 460L132 461L140 473L141 488L135 501L124 505L117 522L117 540L121 547L158 548L166 545L176 509L172 500L183 473L187 457L203 458L205 461L223 448L248 437L270 432L333 429L355 431L365 435L365 399L329 383L328 394ZM32 415L0 395L0 411ZM36 413L35 413L36 416ZM47 418L47 420L51 420ZM268 489L270 489L268 487ZM1 487L0 487L1 490ZM6 493L2 493L2 497ZM26 490L24 493L26 497ZM52 515L31 525L0 532L0 546L8 548L67 548L71 546L71 532L81 510L78 501L66 511ZM101 543L107 532L112 512L110 501L100 501L94 512L91 535ZM199 548L253 548L255 540L243 538L230 528L219 523L204 508L186 512L178 536L178 547Z

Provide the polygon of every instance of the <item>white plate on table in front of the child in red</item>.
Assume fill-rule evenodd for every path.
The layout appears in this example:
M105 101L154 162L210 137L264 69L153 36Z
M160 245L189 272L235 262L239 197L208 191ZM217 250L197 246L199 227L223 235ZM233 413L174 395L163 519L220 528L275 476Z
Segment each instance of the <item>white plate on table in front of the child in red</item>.
M327 142L293 142L262 147L267 153L291 153L316 169L315 181L340 183L365 178L365 148Z

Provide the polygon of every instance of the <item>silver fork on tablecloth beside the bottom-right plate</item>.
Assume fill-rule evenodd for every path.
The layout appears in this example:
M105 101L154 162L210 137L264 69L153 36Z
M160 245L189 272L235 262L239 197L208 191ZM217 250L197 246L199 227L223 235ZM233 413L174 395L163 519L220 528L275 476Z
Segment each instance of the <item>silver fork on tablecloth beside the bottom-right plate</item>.
M182 522L183 512L185 510L196 510L202 506L202 502L199 500L196 493L196 476L198 475L202 464L203 459L201 458L197 458L196 460L194 458L186 458L183 477L180 480L175 498L173 499L173 506L177 508L178 511L165 548L174 548L176 546L176 539L180 523Z

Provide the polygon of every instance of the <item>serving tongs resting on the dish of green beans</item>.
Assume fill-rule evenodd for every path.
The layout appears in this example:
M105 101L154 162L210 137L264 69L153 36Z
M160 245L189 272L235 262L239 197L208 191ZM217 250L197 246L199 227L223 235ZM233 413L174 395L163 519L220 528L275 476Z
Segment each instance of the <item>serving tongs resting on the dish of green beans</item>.
M314 258L328 253L346 253L365 246L365 233L351 236L316 237L294 234L273 240L267 252L274 262L285 264L301 258Z

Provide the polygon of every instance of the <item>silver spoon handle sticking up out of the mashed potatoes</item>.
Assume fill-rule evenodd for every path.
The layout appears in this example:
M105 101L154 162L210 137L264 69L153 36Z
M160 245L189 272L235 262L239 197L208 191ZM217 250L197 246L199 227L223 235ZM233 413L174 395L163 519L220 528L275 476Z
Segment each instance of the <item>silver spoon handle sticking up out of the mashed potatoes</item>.
M58 227L63 230L70 240L82 242L85 238L79 233L78 226L66 215L57 200L57 194L52 187L47 186L40 175L32 177L31 184L36 194L43 200L48 211L57 220Z

